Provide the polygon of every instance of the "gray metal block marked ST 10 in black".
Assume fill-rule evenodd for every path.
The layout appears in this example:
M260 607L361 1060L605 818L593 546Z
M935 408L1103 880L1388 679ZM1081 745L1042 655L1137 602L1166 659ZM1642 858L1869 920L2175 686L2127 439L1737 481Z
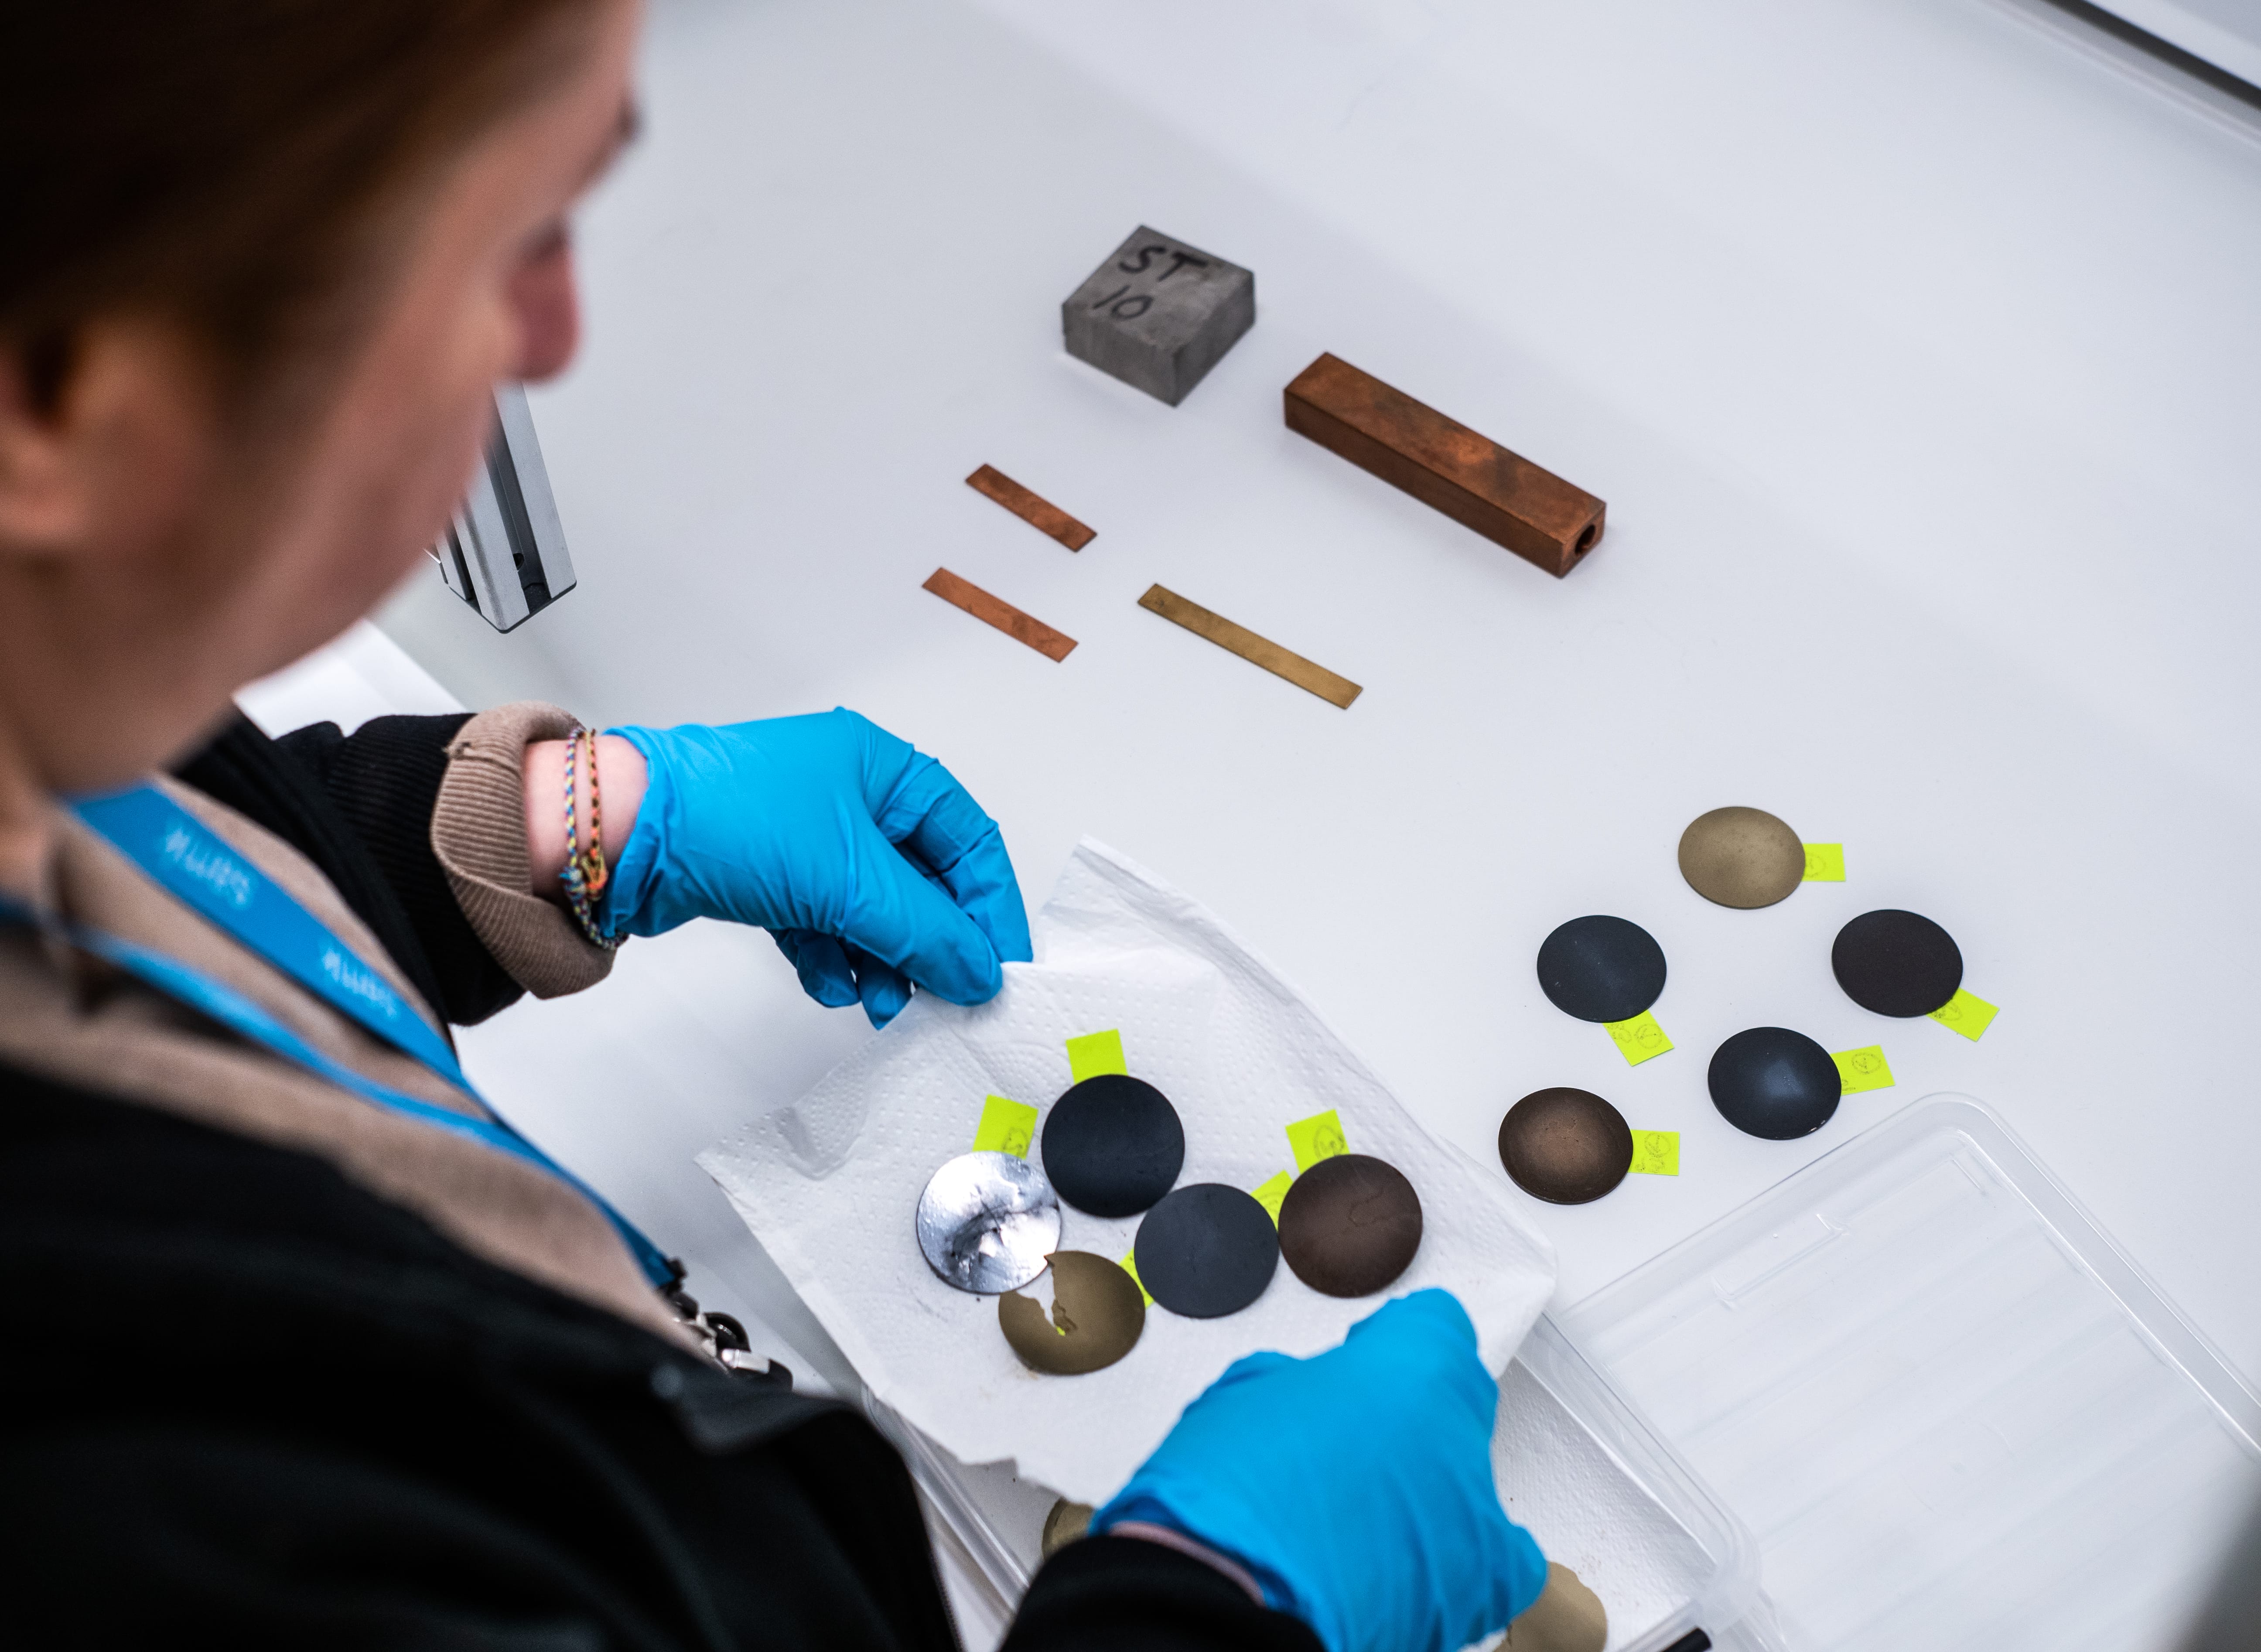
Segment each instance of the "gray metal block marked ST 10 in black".
M1060 305L1067 353L1171 407L1257 323L1257 278L1140 224Z

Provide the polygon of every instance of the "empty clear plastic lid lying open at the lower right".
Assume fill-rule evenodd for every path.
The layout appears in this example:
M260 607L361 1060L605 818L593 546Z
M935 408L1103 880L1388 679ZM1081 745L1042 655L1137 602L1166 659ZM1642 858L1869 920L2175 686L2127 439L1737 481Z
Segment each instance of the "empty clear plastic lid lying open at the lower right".
M1757 1534L1793 1652L2173 1643L2261 1399L1929 1096L1560 1315Z

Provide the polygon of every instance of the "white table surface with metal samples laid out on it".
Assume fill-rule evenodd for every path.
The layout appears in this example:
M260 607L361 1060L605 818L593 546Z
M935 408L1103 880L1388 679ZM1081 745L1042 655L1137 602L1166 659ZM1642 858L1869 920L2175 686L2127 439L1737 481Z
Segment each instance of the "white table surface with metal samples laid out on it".
M495 637L384 615L466 701L604 721L852 705L1004 823L1212 904L1438 1134L1542 1085L1678 1130L1678 1180L1528 1202L1571 1302L1917 1096L1992 1103L2261 1372L2261 140L1996 0L674 0L588 210L590 332L534 407L581 585ZM1140 221L1248 264L1176 409L1060 353ZM1334 350L1610 502L1567 581L1282 427ZM963 486L1099 529L1067 554ZM1081 640L1054 664L920 590ZM1316 701L1135 606L1162 581L1366 685ZM1678 877L1725 802L1849 879ZM1838 924L1944 922L1981 1044L1852 1006ZM1648 927L1678 1042L1540 994ZM1730 1033L1899 1085L1757 1141ZM834 1354L692 1153L868 1037L760 933L638 942L470 1035L513 1116ZM622 1096L633 1096L622 1103ZM1522 1198L1517 1193L1517 1198Z

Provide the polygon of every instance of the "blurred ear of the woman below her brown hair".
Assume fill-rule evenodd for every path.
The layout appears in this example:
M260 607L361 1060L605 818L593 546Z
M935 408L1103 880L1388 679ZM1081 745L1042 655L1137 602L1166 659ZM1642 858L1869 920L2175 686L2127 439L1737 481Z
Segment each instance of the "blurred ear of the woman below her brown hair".
M213 407L192 350L167 328L79 328L52 384L0 344L0 558L95 547L104 524L147 527L210 457Z

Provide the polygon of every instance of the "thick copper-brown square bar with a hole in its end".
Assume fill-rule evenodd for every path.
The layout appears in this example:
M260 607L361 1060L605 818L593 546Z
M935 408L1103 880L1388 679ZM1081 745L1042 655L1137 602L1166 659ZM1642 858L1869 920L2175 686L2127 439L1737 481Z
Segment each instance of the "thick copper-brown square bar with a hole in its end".
M1601 545L1592 493L1332 355L1287 386L1287 427L1556 579Z

